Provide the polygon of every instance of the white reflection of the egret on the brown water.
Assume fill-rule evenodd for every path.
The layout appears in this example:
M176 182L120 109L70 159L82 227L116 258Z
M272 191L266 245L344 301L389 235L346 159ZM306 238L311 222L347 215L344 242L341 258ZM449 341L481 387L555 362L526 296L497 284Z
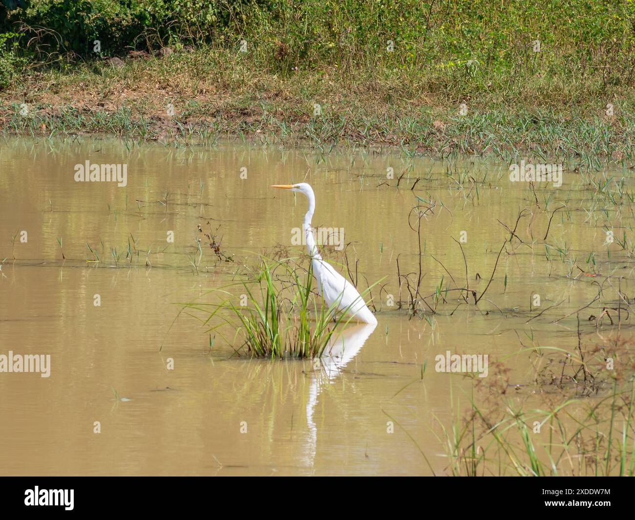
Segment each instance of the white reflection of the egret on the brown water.
M311 387L309 388L309 400L307 402L307 426L309 427L309 453L307 463L313 465L318 442L318 430L313 421L313 414L322 385L331 383L342 372L347 363L361 350L368 336L375 330L377 324L359 324L347 327L347 329L333 336L329 345L324 349L324 355L320 359L320 367L311 373Z

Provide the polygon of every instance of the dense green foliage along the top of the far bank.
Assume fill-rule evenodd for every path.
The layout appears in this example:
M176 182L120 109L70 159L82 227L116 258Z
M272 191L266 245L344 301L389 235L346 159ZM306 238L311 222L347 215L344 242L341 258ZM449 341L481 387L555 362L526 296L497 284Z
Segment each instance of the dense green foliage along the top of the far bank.
M453 67L472 59L488 66L530 55L530 43L559 48L565 57L594 60L632 51L635 4L626 0L32 0L15 9L4 29L42 30L50 50L90 55L93 39L117 53L170 42L234 44L309 65L354 58L395 63L431 58ZM58 45L57 48L55 45ZM528 52L529 51L529 52Z

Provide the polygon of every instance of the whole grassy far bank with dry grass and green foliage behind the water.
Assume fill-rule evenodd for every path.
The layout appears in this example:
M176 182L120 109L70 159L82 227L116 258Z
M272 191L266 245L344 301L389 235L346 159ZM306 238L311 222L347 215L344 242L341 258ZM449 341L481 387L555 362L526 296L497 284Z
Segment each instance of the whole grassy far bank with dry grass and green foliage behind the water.
M633 160L630 2L197 4L11 11L4 131Z

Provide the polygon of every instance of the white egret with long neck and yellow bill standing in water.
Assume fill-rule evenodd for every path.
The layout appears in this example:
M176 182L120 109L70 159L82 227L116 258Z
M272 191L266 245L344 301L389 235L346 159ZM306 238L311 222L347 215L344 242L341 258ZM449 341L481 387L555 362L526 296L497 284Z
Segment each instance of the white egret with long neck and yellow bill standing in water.
M306 236L307 251L309 256L311 256L313 274L318 280L320 296L324 298L328 306L332 306L335 303L338 311L344 311L352 315L352 320L376 325L377 318L366 306L357 289L352 284L349 284L330 264L325 262L318 252L311 229L311 218L316 209L316 198L311 186L306 182L300 182L299 184L278 184L271 187L297 191L303 193L309 199L309 210L304 216L302 232Z

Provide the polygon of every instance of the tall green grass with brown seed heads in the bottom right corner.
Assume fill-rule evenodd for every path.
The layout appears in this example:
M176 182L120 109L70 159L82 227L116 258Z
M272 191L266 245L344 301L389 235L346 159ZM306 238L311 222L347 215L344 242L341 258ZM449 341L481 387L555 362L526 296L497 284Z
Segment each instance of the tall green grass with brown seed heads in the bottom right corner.
M613 338L590 352L580 346L578 359L560 348L526 350L539 360L545 351L560 351L547 362L558 371L561 365L561 373L551 381L536 373L542 407L528 408L526 397L509 395L519 388L509 384L502 362L487 383L476 378L465 415L457 399L451 427L437 420L451 474L635 476L632 342ZM622 368L607 370L613 362ZM595 399L585 399L591 394Z

